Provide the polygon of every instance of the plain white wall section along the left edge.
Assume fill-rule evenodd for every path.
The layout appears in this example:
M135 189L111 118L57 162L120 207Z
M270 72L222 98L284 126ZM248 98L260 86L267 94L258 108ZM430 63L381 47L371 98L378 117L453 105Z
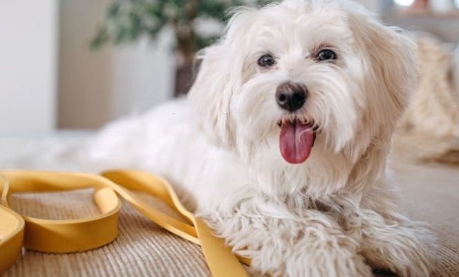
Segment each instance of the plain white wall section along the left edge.
M0 134L56 125L57 0L0 0Z

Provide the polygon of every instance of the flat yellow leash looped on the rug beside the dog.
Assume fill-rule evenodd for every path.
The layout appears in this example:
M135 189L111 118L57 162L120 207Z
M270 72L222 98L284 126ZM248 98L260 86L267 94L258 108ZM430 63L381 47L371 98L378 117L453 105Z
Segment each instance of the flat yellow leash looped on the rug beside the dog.
M100 215L77 220L44 220L19 215L8 204L11 193L50 192L94 188L93 200ZM176 220L131 190L162 199L188 223ZM21 247L51 253L86 251L101 247L118 236L121 201L127 200L164 229L200 244L212 276L247 276L239 260L221 238L180 203L171 185L147 172L110 170L101 175L67 172L0 171L0 275L17 260Z

